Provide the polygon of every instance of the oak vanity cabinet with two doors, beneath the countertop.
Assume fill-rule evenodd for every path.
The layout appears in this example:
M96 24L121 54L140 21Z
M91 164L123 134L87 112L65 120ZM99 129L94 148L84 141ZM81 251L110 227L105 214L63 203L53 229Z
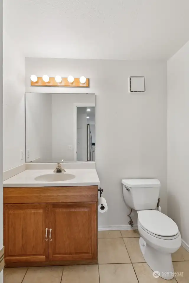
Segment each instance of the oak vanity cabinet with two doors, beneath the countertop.
M53 189L4 188L7 266L97 263L98 187Z

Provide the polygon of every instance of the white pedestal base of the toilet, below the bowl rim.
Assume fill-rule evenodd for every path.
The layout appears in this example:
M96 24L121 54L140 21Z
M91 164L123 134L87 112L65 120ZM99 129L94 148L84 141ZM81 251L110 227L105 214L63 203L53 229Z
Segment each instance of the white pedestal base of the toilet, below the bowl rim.
M142 237L139 239L139 246L146 263L153 271L158 271L160 277L163 279L170 280L174 278L171 254L163 254L162 252L159 252L149 246Z

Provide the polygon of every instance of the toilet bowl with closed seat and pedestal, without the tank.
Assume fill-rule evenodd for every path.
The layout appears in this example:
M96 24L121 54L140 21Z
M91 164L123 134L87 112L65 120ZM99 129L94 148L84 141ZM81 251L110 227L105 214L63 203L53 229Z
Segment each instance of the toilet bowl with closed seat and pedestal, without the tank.
M139 245L146 263L160 277L174 277L171 254L181 246L181 236L176 223L157 210L138 212Z

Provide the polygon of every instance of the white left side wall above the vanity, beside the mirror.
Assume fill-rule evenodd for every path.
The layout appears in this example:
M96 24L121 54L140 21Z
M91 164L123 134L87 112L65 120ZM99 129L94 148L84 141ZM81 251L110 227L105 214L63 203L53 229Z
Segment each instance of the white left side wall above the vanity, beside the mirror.
M3 32L3 154L4 170L25 163L25 58L15 42Z

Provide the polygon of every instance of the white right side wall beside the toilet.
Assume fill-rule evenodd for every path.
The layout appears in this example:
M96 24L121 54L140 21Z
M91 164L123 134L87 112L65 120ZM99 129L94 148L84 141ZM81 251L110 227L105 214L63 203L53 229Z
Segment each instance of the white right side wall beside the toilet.
M189 248L189 42L167 63L168 215Z

